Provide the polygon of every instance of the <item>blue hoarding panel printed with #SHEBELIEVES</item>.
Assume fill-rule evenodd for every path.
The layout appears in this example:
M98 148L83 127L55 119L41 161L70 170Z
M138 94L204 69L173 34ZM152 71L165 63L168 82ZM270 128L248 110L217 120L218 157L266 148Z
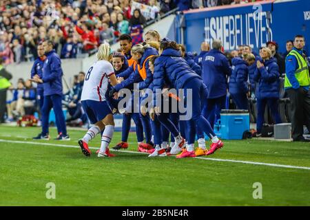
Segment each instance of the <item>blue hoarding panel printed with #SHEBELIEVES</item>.
M286 41L296 34L310 38L310 1L307 0L221 6L185 12L184 17L184 43L189 51L198 52L203 41L221 39L225 50L251 45L258 51L267 41L277 41L280 52L285 52Z

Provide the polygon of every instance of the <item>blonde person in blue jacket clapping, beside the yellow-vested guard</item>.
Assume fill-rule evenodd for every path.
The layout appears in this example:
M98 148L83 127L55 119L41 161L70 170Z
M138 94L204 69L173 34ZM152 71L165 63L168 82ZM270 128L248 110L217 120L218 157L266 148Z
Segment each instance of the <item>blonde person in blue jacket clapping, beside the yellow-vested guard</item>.
M268 104L273 120L276 124L281 123L279 113L279 93L280 93L280 72L276 59L272 57L271 50L263 47L261 51L262 62L256 61L256 71L254 80L256 86L257 99L257 124L256 136L262 135L262 124L264 123L265 107Z

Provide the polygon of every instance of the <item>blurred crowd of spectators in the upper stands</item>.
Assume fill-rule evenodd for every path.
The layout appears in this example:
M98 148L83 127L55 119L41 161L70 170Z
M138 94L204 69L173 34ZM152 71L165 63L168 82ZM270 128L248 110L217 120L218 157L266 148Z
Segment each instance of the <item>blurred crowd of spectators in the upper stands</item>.
M132 13L131 0L3 0L0 1L0 57L4 64L34 61L37 45L54 42L61 58L94 54L103 42L116 43L121 34L143 41L147 19L178 10L213 7L242 0L136 0L152 7L150 17Z

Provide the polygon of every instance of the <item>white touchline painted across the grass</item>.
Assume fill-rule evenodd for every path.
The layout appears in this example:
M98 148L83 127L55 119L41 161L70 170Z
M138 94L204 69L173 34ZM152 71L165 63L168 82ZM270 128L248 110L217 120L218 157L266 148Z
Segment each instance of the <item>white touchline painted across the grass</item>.
M17 144L34 144L34 145L46 145L46 146L63 146L68 148L80 148L79 146L73 145L66 145L66 144L50 144L45 142L24 142L19 140L3 140L0 139L0 142L8 142L8 143L17 143ZM98 147L89 147L90 149L98 149ZM110 151L116 151L111 149ZM117 151L117 152L125 152L125 153L138 153L138 154L147 154L143 152L134 152L134 151ZM207 158L207 157L193 157L194 159L206 159L206 160L213 160L218 162L232 162L232 163L241 163L241 164L253 164L253 165L262 165L262 166L275 166L275 167L282 167L282 168L296 168L302 170L310 170L310 167L307 166L291 166L291 165L282 165L282 164L268 164L262 162L251 162L251 161L244 161L244 160L234 160L234 159L218 159L218 158Z

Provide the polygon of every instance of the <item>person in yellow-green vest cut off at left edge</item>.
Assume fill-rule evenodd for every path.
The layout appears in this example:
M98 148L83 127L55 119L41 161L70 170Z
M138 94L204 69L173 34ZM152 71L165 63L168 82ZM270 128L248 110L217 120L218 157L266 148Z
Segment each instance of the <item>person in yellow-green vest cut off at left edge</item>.
M9 80L12 78L12 74L4 69L3 59L0 57L0 123L4 122L4 112L6 111L6 91L11 86Z

